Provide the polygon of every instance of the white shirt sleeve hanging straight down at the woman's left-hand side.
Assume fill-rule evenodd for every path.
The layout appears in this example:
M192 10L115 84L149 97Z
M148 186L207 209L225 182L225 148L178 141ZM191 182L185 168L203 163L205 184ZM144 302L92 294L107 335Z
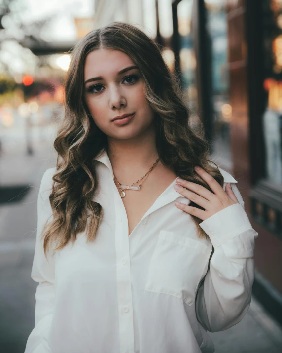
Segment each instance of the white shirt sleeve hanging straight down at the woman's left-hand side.
M31 277L39 284L35 292L35 328L28 337L25 353L51 352L46 338L51 326L55 301L54 258L48 253L46 259L41 232L45 222L52 214L49 195L52 187L53 169L45 171L37 199L37 232Z

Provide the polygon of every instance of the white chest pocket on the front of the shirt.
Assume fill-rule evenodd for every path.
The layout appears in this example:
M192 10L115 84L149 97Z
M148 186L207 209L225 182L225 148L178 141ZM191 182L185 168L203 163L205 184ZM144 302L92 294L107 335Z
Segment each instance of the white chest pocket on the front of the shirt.
M212 249L200 241L161 230L148 267L145 290L195 301Z

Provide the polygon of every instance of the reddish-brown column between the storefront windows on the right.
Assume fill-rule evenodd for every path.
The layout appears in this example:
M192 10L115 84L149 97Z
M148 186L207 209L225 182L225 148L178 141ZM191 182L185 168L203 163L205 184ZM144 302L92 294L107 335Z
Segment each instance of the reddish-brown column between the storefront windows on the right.
M248 189L250 188L249 117L247 84L246 1L227 0L228 57L230 68L230 145L233 174L250 212Z

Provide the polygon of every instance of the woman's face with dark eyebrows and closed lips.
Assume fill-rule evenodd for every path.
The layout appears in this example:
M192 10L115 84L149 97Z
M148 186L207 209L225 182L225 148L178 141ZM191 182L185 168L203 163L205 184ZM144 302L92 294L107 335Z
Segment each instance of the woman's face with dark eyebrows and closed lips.
M144 82L127 54L111 49L90 52L85 60L84 82L87 107L107 136L130 139L152 127L154 113L143 93ZM131 113L134 116L128 122L116 124L112 120Z

